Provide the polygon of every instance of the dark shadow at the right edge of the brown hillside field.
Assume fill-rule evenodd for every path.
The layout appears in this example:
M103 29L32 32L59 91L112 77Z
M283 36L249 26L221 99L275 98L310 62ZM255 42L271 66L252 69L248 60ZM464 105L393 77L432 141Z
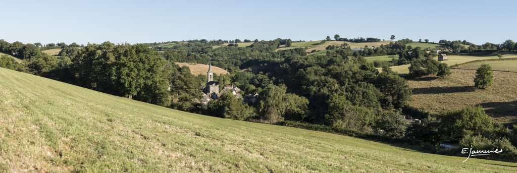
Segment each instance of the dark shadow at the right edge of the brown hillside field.
M517 100L510 102L488 102L478 105L485 108L485 113L493 117L517 115Z

